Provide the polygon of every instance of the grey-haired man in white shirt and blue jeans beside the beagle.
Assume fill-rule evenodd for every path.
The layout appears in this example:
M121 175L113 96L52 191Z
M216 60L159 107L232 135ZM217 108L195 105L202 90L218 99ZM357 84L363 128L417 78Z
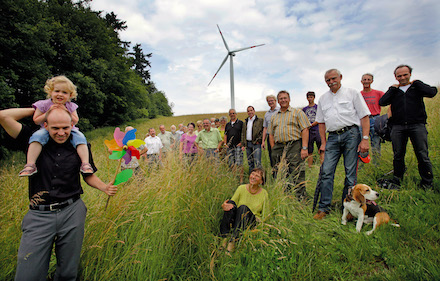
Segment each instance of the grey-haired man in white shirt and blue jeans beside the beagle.
M341 86L342 74L337 69L328 70L325 82L330 88L318 102L316 121L321 135L321 151L325 150L321 167L321 192L319 211L314 219L323 219L330 212L333 196L333 180L341 155L344 156L345 182L342 200L348 188L356 184L356 171L359 152L369 149L370 110L361 93ZM359 134L362 126L362 137ZM326 140L326 131L328 140Z

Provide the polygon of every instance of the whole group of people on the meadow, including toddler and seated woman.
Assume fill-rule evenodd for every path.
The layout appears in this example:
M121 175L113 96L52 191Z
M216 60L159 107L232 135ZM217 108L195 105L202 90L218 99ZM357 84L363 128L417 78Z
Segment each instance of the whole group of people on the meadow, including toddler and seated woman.
M315 93L306 94L309 105L303 109L290 106L290 94L280 91L267 96L270 107L264 118L247 107L248 118L241 121L235 109L229 110L230 121L204 119L187 126L173 125L171 132L159 126L156 135L150 128L145 145L139 147L149 161L160 161L162 153L178 150L181 159L192 161L198 154L209 159L227 158L231 168L243 181L243 152L249 163L249 183L240 185L231 199L223 202L221 235L228 250L234 247L239 229L255 225L264 219L268 210L268 193L262 187L265 172L261 169L261 151L267 148L273 175L287 177L285 191L294 192L299 200L305 192L305 159L313 163L314 145L321 161L317 191L321 194L315 219L323 219L331 209L336 166L344 157L345 181L343 198L357 181L360 153L373 148L373 157L380 154L380 140L374 131L381 106L391 105L387 115L392 125L391 141L394 153L394 176L390 181L399 185L405 172L405 152L408 138L418 161L420 186L433 188L432 165L428 156L426 130L427 114L423 98L432 98L437 88L420 80L411 81L412 68L399 65L394 70L398 84L386 93L371 88L373 75L362 76L362 91L342 87L342 74L337 69L325 72L329 87L315 104ZM64 76L47 81L48 99L29 109L0 111L0 125L14 139L13 147L28 150L28 163L20 176L29 177L29 212L23 219L23 235L18 251L16 280L44 280L47 275L51 249L55 244L57 270L55 279L76 280L84 236L86 208L80 173L87 184L109 196L117 192L112 183L102 182L90 149L83 135L74 127L78 122L77 105L71 103L76 87ZM279 107L277 106L277 102ZM18 121L27 116L43 127L33 135L32 130ZM185 128L186 127L186 128ZM127 127L126 130L132 130ZM30 144L30 145L28 145ZM373 158L374 159L374 158ZM270 173L269 173L270 174Z

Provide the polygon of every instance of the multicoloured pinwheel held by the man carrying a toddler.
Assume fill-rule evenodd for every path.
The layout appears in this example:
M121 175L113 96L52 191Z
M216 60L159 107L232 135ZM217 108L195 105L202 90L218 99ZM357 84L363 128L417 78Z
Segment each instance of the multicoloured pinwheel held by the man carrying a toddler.
M113 137L114 139L105 140L104 143L108 147L108 149L112 151L112 154L109 156L109 158L114 160L119 159L119 165L116 169L115 177L113 179L113 184L118 185L120 183L128 181L133 175L133 170L131 169L127 169L118 173L119 168L121 167L122 159L124 159L125 164L130 163L133 156L139 159L140 154L136 147L145 144L145 142L136 139L136 129L123 133L119 128L116 128ZM108 198L107 204L105 205L106 209L109 200L110 197Z

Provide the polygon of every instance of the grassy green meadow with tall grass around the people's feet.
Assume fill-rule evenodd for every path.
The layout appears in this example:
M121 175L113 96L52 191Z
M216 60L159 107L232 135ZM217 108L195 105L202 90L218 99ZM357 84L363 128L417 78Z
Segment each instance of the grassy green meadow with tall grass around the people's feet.
M440 280L440 98L426 99L430 157L435 190L417 187L417 160L408 145L408 170L401 190L376 186L392 169L391 143L382 144L377 165L365 164L358 182L381 192L378 203L399 222L367 236L371 226L356 233L355 222L341 225L340 197L344 182L339 163L333 199L335 208L322 221L312 216L311 202L284 194L283 179L268 178L271 214L247 230L236 251L219 250L221 203L230 198L239 180L224 163L199 159L191 167L171 155L163 167L141 162L140 171L119 186L105 211L106 195L83 185L88 207L82 247L80 280ZM257 115L262 117L263 112ZM226 114L215 114L220 117ZM212 115L161 117L129 124L144 137L149 127L195 122ZM239 118L244 120L245 114ZM117 161L109 160L104 140L114 128L86 133L92 143L97 175L110 180ZM21 220L28 209L27 180L18 177L24 155L14 154L0 168L0 280L13 280L21 236ZM269 168L267 152L263 165ZM245 164L245 170L247 166ZM307 168L307 192L313 197L319 160ZM50 273L55 270L55 255Z

